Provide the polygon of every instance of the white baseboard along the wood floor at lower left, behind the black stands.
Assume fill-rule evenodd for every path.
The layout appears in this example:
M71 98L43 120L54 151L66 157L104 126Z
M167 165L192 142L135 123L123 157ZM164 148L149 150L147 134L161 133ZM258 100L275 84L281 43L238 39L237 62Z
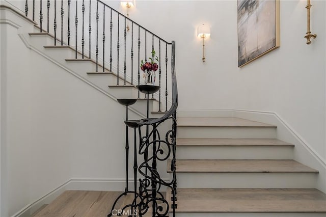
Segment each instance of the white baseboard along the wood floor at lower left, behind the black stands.
M168 181L169 179L164 179ZM21 210L16 212L11 217L30 217L38 208L43 204L49 204L64 191L112 191L122 192L125 189L126 180L120 178L107 178L107 179L88 179L88 178L72 178L65 183L59 185L51 192L40 197L31 204L26 205ZM128 179L129 189L133 189L133 179ZM162 188L165 191L164 188Z

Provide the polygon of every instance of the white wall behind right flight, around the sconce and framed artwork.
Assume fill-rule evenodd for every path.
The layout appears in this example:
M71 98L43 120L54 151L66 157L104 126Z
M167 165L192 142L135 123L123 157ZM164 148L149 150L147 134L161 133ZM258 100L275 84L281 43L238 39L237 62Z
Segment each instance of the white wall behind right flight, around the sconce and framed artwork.
M312 1L317 38L311 45L304 38L306 4L281 1L281 47L242 68L237 67L236 1L137 1L130 18L176 41L180 110L275 112L325 161L325 1ZM211 27L205 63L196 37L202 22Z

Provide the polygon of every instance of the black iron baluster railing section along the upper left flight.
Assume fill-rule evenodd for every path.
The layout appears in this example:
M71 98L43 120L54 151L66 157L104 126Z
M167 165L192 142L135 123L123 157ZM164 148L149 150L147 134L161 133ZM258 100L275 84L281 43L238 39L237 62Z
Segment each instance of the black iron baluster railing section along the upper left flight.
M158 112L168 111L172 98L169 91L171 42L99 0L26 0L25 15L39 24L40 32L54 36L54 45L72 46L75 59L94 58L96 72L116 73L118 86L140 85L140 61L147 61L148 53L155 50L159 59L156 85L160 87L155 98L159 101Z

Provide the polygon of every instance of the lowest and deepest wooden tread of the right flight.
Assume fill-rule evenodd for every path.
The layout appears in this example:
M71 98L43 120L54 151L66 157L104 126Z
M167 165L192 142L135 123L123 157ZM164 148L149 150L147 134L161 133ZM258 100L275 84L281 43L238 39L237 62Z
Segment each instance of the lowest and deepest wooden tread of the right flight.
M326 213L326 194L313 188L179 188L176 203L180 213Z

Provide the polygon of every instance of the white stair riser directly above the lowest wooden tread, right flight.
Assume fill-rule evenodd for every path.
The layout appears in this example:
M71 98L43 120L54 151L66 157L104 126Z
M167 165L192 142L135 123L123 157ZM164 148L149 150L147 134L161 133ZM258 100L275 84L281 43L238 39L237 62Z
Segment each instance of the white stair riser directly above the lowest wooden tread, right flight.
M177 173L179 188L314 188L316 180L304 173Z

